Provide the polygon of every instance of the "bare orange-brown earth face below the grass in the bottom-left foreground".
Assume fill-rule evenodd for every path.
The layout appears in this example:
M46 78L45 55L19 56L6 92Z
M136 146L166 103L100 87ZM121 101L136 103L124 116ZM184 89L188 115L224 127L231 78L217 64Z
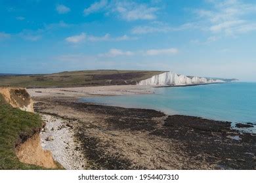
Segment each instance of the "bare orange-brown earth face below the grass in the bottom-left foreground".
M38 165L48 169L57 168L50 151L43 150L39 133L16 147L16 156L22 163Z

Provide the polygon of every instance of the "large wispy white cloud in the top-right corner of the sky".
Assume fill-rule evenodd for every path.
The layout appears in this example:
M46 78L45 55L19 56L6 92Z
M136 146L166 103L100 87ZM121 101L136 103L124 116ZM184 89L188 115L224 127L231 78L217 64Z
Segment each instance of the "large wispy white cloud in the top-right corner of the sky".
M249 31L256 31L256 21L251 14L256 14L256 5L244 3L240 0L213 1L211 10L196 9L194 12L201 18L203 29L211 33L237 35Z

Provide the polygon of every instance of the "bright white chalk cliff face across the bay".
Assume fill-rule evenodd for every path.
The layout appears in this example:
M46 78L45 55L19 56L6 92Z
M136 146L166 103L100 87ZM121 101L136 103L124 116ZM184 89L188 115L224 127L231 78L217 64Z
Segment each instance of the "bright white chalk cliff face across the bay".
M224 82L223 80L213 80L202 78L198 76L185 76L178 75L173 72L166 72L160 75L152 76L146 80L141 80L138 85L151 85L151 86L180 86L180 85L190 85L190 84L207 84L207 83L217 83Z

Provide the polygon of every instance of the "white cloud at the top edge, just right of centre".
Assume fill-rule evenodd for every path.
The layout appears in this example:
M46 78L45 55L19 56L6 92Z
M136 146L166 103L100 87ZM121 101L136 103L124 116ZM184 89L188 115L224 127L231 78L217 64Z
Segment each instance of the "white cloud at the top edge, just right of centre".
M114 12L118 12L121 18L128 21L154 20L159 8L148 7L146 4L138 4L128 1L117 1Z

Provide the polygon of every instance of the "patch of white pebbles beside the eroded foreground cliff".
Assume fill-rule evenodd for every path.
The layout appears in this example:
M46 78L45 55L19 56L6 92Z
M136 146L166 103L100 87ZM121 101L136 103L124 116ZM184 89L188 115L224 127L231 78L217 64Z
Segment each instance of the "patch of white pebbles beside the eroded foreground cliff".
M65 169L83 169L84 157L77 151L79 142L74 139L72 125L67 120L47 114L41 115L45 127L41 131L41 146L44 150L50 150L55 161L58 161ZM73 124L75 123L72 122Z

